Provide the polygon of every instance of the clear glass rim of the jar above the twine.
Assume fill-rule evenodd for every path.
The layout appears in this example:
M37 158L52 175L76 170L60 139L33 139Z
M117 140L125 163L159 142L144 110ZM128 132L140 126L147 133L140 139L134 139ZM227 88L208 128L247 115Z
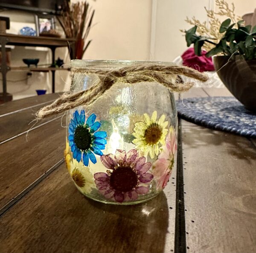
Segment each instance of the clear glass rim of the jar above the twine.
M135 60L71 60L71 67L96 67L96 68L114 68L125 67L140 64L160 64L173 65L173 62L166 61L135 61Z

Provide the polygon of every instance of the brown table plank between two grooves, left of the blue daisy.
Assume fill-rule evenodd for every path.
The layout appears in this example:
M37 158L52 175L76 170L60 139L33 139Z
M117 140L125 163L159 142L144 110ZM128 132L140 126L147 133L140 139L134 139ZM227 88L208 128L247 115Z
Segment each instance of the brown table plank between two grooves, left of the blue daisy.
M61 160L65 135L56 119L0 145L0 207Z

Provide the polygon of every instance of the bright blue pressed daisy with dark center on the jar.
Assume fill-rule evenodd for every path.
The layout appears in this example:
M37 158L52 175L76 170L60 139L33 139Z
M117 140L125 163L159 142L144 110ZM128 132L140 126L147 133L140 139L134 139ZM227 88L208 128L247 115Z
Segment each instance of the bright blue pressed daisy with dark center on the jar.
M88 166L89 159L92 163L96 163L94 154L103 155L102 150L105 149L107 141L107 133L105 131L97 131L101 123L95 122L96 115L91 114L85 123L85 113L82 110L73 113L73 119L70 120L68 128L68 140L73 152L73 158L78 162L83 160L85 166Z

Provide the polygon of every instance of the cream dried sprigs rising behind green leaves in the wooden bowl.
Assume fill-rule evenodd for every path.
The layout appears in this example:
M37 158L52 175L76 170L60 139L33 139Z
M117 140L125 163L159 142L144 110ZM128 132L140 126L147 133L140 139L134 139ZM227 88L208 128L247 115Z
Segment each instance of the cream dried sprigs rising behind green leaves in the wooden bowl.
M231 4L231 7L228 5L225 0L215 0L216 7L218 8L218 12L214 12L212 10L206 10L207 17L209 18L209 27L207 27L207 22L201 22L200 20L196 19L195 16L192 19L186 17L186 23L190 25L198 27L198 35L206 36L206 37L213 37L217 38L216 43L218 43L221 38L222 34L219 32L219 28L221 26L221 21L218 19L218 16L230 18L232 23L237 23L242 18L235 14L235 6L234 3ZM180 30L181 32L185 32L184 29ZM215 47L213 44L204 44L203 49L209 51Z

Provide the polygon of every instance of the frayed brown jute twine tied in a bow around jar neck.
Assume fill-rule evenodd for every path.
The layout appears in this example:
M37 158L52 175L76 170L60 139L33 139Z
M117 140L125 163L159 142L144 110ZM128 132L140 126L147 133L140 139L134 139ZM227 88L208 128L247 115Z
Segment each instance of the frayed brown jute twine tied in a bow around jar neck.
M81 90L76 93L64 93L52 104L41 108L36 113L37 119L44 119L58 113L75 108L79 105L92 105L107 90L117 82L136 84L139 82L158 82L164 87L174 92L183 92L189 90L194 83L173 83L172 77L177 75L188 76L199 81L207 81L209 78L206 74L200 73L185 66L171 66L159 64L147 64L123 67L118 70L97 70L88 68L72 68L71 73L96 74L98 81L89 89Z

